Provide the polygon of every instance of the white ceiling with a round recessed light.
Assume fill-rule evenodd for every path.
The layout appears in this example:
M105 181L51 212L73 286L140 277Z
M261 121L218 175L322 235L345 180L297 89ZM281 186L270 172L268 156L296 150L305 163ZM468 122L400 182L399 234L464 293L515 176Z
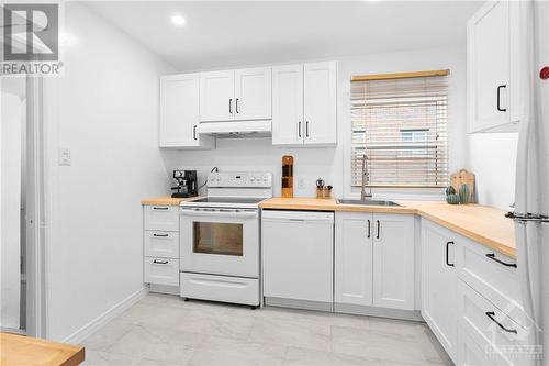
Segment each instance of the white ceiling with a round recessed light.
M464 44L478 1L105 1L89 8L178 70ZM172 14L186 24L177 27Z

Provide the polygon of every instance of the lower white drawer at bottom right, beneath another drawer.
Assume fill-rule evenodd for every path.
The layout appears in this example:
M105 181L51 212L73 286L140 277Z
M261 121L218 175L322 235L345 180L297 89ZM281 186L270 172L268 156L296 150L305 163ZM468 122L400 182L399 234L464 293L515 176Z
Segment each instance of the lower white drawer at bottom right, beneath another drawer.
M519 353L528 344L527 330L462 280L458 280L458 326L496 365L527 365L527 355Z

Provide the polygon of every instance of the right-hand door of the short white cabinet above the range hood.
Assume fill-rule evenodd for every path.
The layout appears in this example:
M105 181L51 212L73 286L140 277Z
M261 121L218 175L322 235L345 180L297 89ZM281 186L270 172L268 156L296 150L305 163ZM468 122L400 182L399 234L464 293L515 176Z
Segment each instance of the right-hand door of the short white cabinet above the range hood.
M235 120L271 119L271 68L235 70Z

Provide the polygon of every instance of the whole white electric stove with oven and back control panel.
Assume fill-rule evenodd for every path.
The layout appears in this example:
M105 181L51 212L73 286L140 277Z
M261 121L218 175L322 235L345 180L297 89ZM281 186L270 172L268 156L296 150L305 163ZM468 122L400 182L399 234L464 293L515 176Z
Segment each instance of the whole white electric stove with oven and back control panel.
M208 197L181 203L181 297L259 304L259 202L270 197L270 173L212 173Z

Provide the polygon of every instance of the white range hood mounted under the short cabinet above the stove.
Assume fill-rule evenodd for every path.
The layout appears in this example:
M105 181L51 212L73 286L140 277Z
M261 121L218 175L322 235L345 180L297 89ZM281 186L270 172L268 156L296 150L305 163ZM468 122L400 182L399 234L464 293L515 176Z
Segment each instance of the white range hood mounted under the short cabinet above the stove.
M217 137L269 137L271 120L200 122L198 133Z

